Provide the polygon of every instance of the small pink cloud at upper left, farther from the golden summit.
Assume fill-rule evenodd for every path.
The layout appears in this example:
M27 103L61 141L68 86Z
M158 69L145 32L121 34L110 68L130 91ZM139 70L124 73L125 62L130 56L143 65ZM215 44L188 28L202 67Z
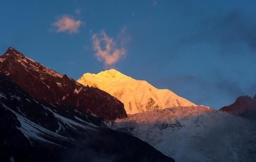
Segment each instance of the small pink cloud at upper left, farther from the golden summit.
M79 27L83 24L81 20L75 20L72 16L65 15L59 17L59 19L53 23L56 27L56 32L67 32L67 33L77 33Z

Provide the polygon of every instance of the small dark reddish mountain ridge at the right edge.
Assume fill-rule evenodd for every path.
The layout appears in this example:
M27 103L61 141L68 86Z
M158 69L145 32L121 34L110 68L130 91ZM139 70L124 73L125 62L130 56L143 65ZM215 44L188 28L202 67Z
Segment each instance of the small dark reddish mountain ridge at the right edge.
M256 120L256 95L254 98L240 96L234 103L222 107L220 111Z

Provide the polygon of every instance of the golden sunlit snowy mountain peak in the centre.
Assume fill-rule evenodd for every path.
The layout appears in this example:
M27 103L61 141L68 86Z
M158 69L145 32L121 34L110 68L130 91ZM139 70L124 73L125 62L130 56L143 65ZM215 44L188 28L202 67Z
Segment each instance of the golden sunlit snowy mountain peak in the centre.
M141 113L175 106L196 106L196 104L167 89L157 89L144 80L136 80L115 69L98 74L85 73L77 80L82 85L97 87L124 103L127 114Z

